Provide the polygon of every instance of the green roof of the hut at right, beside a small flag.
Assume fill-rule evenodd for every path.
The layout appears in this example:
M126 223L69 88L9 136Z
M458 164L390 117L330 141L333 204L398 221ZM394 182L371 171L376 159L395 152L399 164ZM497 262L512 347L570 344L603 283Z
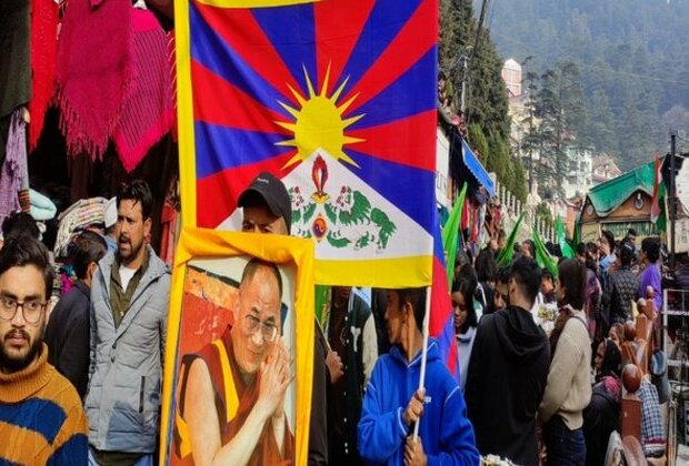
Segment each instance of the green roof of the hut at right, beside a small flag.
M636 191L641 190L648 195L653 194L655 161L636 170L622 173L618 178L606 181L589 190L587 197L593 204L599 216L608 216Z

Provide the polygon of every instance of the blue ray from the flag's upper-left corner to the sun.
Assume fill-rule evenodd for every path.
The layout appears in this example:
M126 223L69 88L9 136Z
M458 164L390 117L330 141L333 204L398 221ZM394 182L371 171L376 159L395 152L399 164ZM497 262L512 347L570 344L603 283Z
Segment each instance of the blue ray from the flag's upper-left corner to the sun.
M222 79L243 90L253 100L286 116L289 113L278 103L287 99L258 74L203 20L193 2L189 3L191 57Z

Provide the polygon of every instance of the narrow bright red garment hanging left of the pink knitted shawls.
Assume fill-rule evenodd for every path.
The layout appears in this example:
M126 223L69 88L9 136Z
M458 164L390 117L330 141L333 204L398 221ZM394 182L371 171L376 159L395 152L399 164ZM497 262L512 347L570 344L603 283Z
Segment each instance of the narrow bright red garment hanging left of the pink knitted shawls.
M58 52L58 6L54 0L31 0L31 90L29 150L36 149L52 99Z

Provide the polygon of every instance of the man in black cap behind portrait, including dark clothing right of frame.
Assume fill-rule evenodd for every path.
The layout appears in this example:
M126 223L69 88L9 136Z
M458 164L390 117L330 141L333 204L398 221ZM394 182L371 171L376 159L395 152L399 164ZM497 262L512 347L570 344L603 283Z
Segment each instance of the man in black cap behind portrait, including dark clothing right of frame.
M268 172L253 179L238 200L243 209L241 230L253 233L290 234L292 205L282 181ZM309 465L328 464L328 418L326 406L327 343L323 332L316 323L313 345L313 387L309 427Z

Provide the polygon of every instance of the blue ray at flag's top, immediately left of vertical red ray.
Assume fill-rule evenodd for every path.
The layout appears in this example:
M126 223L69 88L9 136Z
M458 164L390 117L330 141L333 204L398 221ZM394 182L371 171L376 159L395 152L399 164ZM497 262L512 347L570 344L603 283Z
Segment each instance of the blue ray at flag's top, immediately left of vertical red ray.
M309 73L311 84L316 87L318 80L313 6L256 8L251 13L308 98L303 69Z

